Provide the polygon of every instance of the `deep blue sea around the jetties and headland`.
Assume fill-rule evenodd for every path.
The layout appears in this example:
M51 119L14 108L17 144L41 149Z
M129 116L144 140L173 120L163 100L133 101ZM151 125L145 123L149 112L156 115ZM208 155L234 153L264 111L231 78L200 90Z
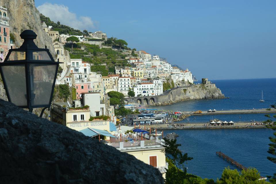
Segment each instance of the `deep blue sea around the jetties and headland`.
M182 101L152 108L170 111L266 109L276 103L276 78L213 80L211 82L215 83L225 97L229 98ZM262 91L264 102L259 102ZM203 115L190 116L182 122L208 122L211 119L228 122L261 122L268 118L264 114ZM227 166L239 170L217 156L218 151L246 167L255 167L261 176L266 177L276 172L276 164L267 160L267 156L270 156L267 153L269 137L273 136L274 132L270 129L166 130L164 135L172 132L179 135L177 143L181 144L180 150L193 157L193 160L185 165L188 173L216 180L221 177L223 169Z

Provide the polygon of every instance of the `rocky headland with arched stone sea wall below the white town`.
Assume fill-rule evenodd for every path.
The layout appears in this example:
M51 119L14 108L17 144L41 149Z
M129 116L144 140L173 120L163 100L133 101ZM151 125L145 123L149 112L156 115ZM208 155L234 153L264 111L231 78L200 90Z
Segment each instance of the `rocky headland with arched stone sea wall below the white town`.
M163 95L125 98L126 102L142 105L164 106L192 99L222 99L225 96L215 84L196 84L175 88Z

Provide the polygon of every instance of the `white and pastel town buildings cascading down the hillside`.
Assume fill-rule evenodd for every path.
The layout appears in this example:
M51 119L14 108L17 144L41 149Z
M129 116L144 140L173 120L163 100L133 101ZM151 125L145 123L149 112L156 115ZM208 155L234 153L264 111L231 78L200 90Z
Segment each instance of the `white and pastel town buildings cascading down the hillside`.
M15 46L13 43L13 35L9 32L8 11L2 6L0 20L0 51L3 62L8 56L9 49L19 45ZM103 45L108 39L106 33L96 31L87 35L69 35L60 34L45 22L41 22L41 27L52 40L56 61L62 62L55 85L68 85L75 89L72 92L76 93L72 94L75 96L72 103L52 102L49 119L135 156L157 168L165 178L168 162L165 160L165 154L160 152L164 152L165 149L162 146L163 132L145 128L145 125L172 122L172 114L143 111L139 102L124 104L123 108L141 115L116 114L115 111L120 109L120 104L111 105L108 94L118 92L122 94L121 100L130 96L162 95L164 91L169 90L163 88L163 83L169 79L176 86L191 85L193 83L191 71L173 67L159 55L151 55L143 50L135 50L131 54L129 50L120 48L119 51L126 55L123 60L127 61L128 66L115 65L113 72L103 75L101 72L91 71L93 63L86 62L82 58L71 58L72 50L66 49L65 45L69 42L68 38L76 37L80 43L118 51L117 48ZM85 46L81 49L84 50ZM106 66L106 64L101 65ZM131 95L129 92L132 92ZM178 112L173 115L179 117L180 114Z

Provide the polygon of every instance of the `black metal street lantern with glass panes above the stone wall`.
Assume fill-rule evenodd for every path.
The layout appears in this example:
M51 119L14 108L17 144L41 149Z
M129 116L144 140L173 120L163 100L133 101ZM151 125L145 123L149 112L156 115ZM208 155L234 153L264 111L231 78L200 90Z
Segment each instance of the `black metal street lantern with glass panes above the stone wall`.
M32 30L24 30L24 39L18 49L9 49L0 72L9 102L21 108L46 108L51 106L58 65L49 49L39 49L34 43L37 38Z

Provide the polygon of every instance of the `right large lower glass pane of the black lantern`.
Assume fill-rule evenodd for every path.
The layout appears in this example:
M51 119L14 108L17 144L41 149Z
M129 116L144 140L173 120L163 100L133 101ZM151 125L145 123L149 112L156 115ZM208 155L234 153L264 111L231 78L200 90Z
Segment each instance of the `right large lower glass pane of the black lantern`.
M57 64L30 64L32 106L50 103Z

